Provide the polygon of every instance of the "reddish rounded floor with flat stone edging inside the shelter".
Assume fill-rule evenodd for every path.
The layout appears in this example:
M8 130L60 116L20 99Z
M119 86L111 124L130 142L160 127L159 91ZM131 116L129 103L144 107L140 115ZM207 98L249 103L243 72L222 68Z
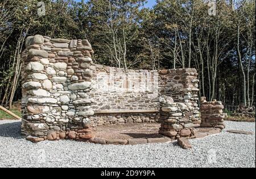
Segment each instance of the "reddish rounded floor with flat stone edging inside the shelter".
M93 129L94 138L90 139L90 142L98 144L136 145L174 141L174 139L159 134L159 127L159 123L98 126ZM220 129L200 127L195 129L195 135L192 138L204 138L219 133L221 133Z

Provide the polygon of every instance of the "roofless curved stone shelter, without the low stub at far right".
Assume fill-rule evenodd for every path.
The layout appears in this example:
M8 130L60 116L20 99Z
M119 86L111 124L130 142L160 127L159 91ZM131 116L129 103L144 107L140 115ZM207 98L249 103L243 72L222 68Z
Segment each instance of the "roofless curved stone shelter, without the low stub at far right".
M195 69L118 69L94 64L92 54L88 40L27 38L22 134L28 140L88 140L94 126L134 122L160 122L161 134L191 137L200 126Z

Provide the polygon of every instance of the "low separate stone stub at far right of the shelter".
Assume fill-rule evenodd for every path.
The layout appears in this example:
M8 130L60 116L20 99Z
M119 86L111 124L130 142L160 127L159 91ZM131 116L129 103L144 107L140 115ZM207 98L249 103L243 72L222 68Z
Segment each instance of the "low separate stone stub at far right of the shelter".
M206 97L201 97L201 127L225 128L223 113L224 105L221 101L206 101Z

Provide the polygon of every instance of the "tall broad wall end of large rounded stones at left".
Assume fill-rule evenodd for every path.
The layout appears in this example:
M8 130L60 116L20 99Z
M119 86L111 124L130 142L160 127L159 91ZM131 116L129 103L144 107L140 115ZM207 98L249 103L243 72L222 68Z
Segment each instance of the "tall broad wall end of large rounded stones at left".
M22 54L22 134L28 140L92 137L91 53L87 40L27 37Z

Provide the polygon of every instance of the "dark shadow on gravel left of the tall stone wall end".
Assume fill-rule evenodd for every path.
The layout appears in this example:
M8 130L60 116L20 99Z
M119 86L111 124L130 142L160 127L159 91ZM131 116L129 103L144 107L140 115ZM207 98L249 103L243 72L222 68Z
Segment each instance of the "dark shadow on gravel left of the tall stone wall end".
M0 137L22 139L21 122L4 123L0 125Z

